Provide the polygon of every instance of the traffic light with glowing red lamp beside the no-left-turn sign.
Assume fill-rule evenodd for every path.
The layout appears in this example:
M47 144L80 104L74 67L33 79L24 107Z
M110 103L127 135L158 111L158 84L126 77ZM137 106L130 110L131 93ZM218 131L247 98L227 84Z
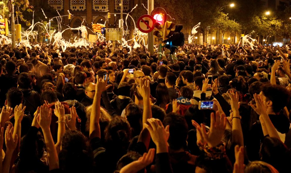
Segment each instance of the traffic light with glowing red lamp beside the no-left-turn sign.
M154 44L158 44L159 41L163 41L165 14L162 13L155 14L153 18L155 19L155 23L153 25L155 27L155 30L153 32Z

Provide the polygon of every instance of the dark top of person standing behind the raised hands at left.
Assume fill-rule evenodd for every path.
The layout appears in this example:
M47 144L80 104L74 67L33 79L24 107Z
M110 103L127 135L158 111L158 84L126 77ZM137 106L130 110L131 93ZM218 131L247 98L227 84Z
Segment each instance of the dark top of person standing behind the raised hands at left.
M33 117L34 112L36 111L37 107L40 106L40 95L36 91L31 89L19 89L23 93L24 101L23 104L26 106L25 112Z

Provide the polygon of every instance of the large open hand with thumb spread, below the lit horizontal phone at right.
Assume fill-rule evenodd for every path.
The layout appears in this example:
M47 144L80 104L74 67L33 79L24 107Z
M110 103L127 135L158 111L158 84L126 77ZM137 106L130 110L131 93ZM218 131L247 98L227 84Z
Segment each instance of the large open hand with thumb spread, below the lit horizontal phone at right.
M226 117L224 114L216 112L210 114L210 130L206 132L205 125L197 126L196 129L200 133L203 141L205 141L209 147L215 147L218 145L223 137L226 127Z

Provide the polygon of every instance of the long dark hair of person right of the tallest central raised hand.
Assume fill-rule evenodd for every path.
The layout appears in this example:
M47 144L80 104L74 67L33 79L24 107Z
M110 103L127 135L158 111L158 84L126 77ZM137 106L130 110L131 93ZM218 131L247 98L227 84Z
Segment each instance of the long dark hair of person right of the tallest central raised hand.
M164 83L159 83L156 89L156 105L165 109L166 105L170 103L170 96L167 86Z

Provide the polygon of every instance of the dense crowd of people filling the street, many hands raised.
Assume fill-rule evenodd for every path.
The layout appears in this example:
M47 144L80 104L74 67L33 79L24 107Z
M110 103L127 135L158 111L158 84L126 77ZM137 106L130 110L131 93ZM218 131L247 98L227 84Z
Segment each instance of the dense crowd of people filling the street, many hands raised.
M169 52L1 45L0 172L290 172L288 45Z

